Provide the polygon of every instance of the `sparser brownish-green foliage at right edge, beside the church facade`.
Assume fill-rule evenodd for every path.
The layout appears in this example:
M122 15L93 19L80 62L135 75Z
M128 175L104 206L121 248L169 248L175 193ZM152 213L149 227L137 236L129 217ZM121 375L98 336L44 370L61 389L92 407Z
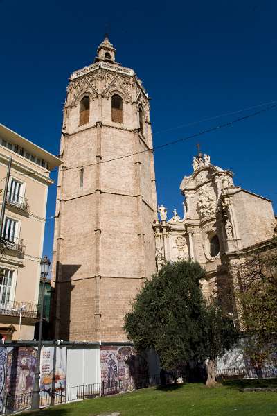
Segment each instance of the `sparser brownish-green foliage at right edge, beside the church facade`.
M261 367L274 351L277 338L277 250L257 251L240 266L237 297L249 333L246 354Z

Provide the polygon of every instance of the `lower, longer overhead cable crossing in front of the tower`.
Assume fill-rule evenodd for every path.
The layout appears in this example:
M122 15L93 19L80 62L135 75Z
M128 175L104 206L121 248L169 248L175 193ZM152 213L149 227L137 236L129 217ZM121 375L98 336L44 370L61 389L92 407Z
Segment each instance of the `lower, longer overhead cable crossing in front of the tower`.
M182 139L168 141L167 143L160 144L159 146L155 146L152 149L140 150L139 152L129 153L129 155L118 156L118 157L114 157L112 159L107 159L107 160L100 160L99 162L93 162L93 163L89 163L89 164L83 164L82 166L74 166L73 168L66 168L66 171L71 171L73 169L78 169L78 168L84 168L86 166L96 166L98 164L104 164L104 163L107 163L107 162L114 162L115 160L125 159L127 157L132 157L132 156L135 156L135 155L140 155L141 153L152 152L152 151L155 151L155 150L159 150L161 148L165 148L167 146L172 146L173 144L180 143L181 141L186 141L188 139L194 139L195 137L199 137L199 136L202 136L202 135L206 135L206 134L208 134L210 132L213 132L215 130L220 130L221 128L229 127L230 125L233 125L235 123L240 123L240 121L244 121L244 120L247 120L247 119L251 119L253 117L258 116L259 114L262 114L262 113L267 112L269 110L273 110L274 108L277 107L277 101L272 101L272 103L274 103L274 104L271 105L271 106L269 106L269 107L267 107L267 108L262 108L261 110L258 110L256 112L253 112L252 114L248 114L247 116L242 116L242 117L240 117L238 119L234 119L234 120L228 121L226 123L222 123L222 124L216 125L215 127L208 128L206 130L202 130L200 132L194 133L193 135L189 135L189 136L183 137ZM260 105L258 105L256 107L252 107L252 108L261 107L262 105L263 104L260 104ZM244 110L239 110L238 112L242 112L242 111L244 111ZM55 173L55 172L59 172L59 171L60 171L60 169L54 169L53 171L51 171L51 173ZM38 173L28 173L28 174L26 174L26 173L15 173L14 175L10 175L10 176L12 176L12 177L14 177L14 176L31 176L31 175L37 176L40 173L49 173L49 171L42 171L42 172L38 172ZM5 179L5 177L3 177L3 179Z

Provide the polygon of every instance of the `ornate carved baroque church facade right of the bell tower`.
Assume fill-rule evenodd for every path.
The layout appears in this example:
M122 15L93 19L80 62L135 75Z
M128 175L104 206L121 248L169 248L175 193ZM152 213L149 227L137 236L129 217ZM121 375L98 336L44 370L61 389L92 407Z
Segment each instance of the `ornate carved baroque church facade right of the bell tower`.
M271 200L233 183L233 173L215 166L210 156L193 157L193 173L180 184L184 196L182 218L159 206L154 222L157 269L164 261L191 259L206 269L202 291L217 296L242 329L240 306L234 289L238 270L251 253L270 250L276 218Z

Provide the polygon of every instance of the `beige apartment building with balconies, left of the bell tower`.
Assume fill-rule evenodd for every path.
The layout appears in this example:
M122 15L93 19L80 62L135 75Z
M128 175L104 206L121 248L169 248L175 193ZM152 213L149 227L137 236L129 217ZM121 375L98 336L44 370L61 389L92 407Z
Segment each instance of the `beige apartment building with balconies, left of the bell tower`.
M32 340L50 171L60 159L0 124L0 203L12 157L0 240L0 338ZM1 208L0 207L0 208Z

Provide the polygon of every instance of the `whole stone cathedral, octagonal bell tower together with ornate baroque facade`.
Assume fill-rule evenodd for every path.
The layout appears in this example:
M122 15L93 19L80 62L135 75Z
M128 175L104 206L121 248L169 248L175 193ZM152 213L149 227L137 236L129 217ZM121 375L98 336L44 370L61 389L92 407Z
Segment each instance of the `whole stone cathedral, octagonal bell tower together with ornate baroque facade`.
M181 181L184 214L159 205L148 94L106 37L95 62L72 73L64 105L53 247L53 337L125 343L122 329L143 281L165 261L206 268L240 325L235 267L270 241L271 201L233 184L208 155ZM160 218L158 218L158 211Z

